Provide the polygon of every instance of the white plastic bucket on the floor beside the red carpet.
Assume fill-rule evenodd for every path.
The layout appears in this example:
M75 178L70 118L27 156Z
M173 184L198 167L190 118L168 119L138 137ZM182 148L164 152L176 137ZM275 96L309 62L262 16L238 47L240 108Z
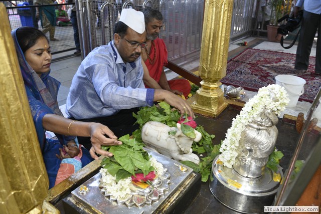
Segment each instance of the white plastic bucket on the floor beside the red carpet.
M304 93L306 81L300 77L286 74L277 75L275 80L276 84L283 86L289 95L290 102L287 107L295 107L299 96Z

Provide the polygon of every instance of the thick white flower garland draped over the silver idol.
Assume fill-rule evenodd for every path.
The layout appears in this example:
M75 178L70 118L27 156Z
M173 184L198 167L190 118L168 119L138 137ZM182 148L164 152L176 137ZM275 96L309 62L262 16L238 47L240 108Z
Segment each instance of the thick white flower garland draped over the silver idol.
M271 97L272 95L272 97ZM268 85L259 89L257 95L250 99L243 107L239 115L227 130L220 152L220 160L226 167L232 168L239 152L239 141L245 127L251 123L263 111L270 111L278 115L289 103L286 90L279 85Z

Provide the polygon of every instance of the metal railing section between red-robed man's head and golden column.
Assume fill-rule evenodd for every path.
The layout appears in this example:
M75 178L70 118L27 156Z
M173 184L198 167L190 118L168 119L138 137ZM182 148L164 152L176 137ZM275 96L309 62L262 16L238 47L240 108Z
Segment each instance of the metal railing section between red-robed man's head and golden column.
M159 8L164 17L160 37L165 41L168 59L184 62L201 49L204 0L162 0Z

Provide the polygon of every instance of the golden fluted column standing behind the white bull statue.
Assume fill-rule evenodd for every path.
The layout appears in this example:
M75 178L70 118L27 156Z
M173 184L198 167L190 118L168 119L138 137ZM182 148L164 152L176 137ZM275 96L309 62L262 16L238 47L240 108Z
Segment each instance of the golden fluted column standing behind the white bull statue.
M202 88L192 104L194 112L217 117L226 107L220 89L226 75L233 0L206 0L199 75Z

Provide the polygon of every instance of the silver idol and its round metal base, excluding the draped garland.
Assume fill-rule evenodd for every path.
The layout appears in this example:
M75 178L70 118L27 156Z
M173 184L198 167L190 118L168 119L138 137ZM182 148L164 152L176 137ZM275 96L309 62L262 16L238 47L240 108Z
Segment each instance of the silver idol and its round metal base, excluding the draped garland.
M283 177L281 170L273 173L265 167L275 146L278 118L264 116L242 133L242 149L232 168L225 167L219 156L213 161L212 193L226 206L245 213L264 212L264 205L272 204Z

